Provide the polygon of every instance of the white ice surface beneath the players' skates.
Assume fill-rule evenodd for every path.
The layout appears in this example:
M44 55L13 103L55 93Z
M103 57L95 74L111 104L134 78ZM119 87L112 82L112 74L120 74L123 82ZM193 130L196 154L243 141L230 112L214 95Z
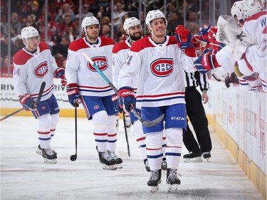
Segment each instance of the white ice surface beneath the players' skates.
M45 164L36 154L37 121L10 117L1 122L1 199L263 199L211 130L210 162L189 164L181 159L182 184L168 192L166 174L155 194L150 192L133 129L128 132L131 157L127 157L125 133L120 120L117 151L123 169L104 170L98 161L93 124L78 118L78 158L75 154L75 122L61 117L52 147L57 164ZM186 154L185 147L182 153Z

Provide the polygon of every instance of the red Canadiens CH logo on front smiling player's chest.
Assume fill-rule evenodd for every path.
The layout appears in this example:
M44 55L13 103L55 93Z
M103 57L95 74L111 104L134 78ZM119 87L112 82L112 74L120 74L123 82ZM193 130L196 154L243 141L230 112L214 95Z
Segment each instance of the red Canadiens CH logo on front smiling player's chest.
M173 72L172 58L159 58L150 64L151 72L159 77L165 77Z

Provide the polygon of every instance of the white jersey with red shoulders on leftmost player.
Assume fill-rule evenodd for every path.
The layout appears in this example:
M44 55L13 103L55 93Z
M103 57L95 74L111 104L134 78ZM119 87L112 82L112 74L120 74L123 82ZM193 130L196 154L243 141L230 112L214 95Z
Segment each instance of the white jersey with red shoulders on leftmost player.
M36 100L43 81L46 82L46 88L41 101L51 97L54 90L53 73L58 65L46 43L39 43L33 54L22 48L14 55L13 63L14 88L19 97L28 93Z

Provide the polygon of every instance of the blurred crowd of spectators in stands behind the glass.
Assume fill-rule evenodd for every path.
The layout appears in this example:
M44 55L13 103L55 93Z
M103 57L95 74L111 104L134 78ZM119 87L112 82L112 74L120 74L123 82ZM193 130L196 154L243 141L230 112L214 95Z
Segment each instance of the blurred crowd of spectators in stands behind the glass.
M15 2L15 1L14 1ZM114 40L120 42L125 40L123 22L131 16L139 18L139 1L136 0L115 0L113 11ZM186 2L186 26L197 33L199 24L199 1L188 0ZM147 10L164 10L164 1L148 1ZM204 4L204 6L209 6ZM205 9L205 7L204 7ZM1 1L1 76L4 66L7 68L6 56L8 56L8 3ZM11 63L14 53L23 48L21 41L21 29L25 26L35 27L41 36L41 41L46 40L45 33L45 1L16 1L11 5ZM108 0L83 0L81 13L79 13L79 1L70 0L49 0L48 1L48 46L52 55L56 58L59 67L62 67L66 60L69 44L83 37L80 28L80 18L95 16L100 21L100 36L111 36L111 1ZM184 25L184 1L170 1L167 4L167 33L174 31L178 24ZM140 21L144 23L145 15L142 13ZM206 21L208 23L208 21Z

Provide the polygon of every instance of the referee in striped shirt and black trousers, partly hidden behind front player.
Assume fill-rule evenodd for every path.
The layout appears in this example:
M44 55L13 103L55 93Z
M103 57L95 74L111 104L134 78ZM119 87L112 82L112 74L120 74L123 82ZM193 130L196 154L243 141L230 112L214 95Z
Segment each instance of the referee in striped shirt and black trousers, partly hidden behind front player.
M195 140L192 131L187 124L187 130L183 133L183 142L189 154L184 155L184 162L202 162L201 154L204 159L209 161L211 157L211 137L209 135L208 120L206 112L202 105L209 101L207 90L209 82L206 74L201 74L198 71L194 73L184 73L185 75L185 102L187 107L187 116L194 128L197 140ZM202 96L197 90L197 86L202 92Z

